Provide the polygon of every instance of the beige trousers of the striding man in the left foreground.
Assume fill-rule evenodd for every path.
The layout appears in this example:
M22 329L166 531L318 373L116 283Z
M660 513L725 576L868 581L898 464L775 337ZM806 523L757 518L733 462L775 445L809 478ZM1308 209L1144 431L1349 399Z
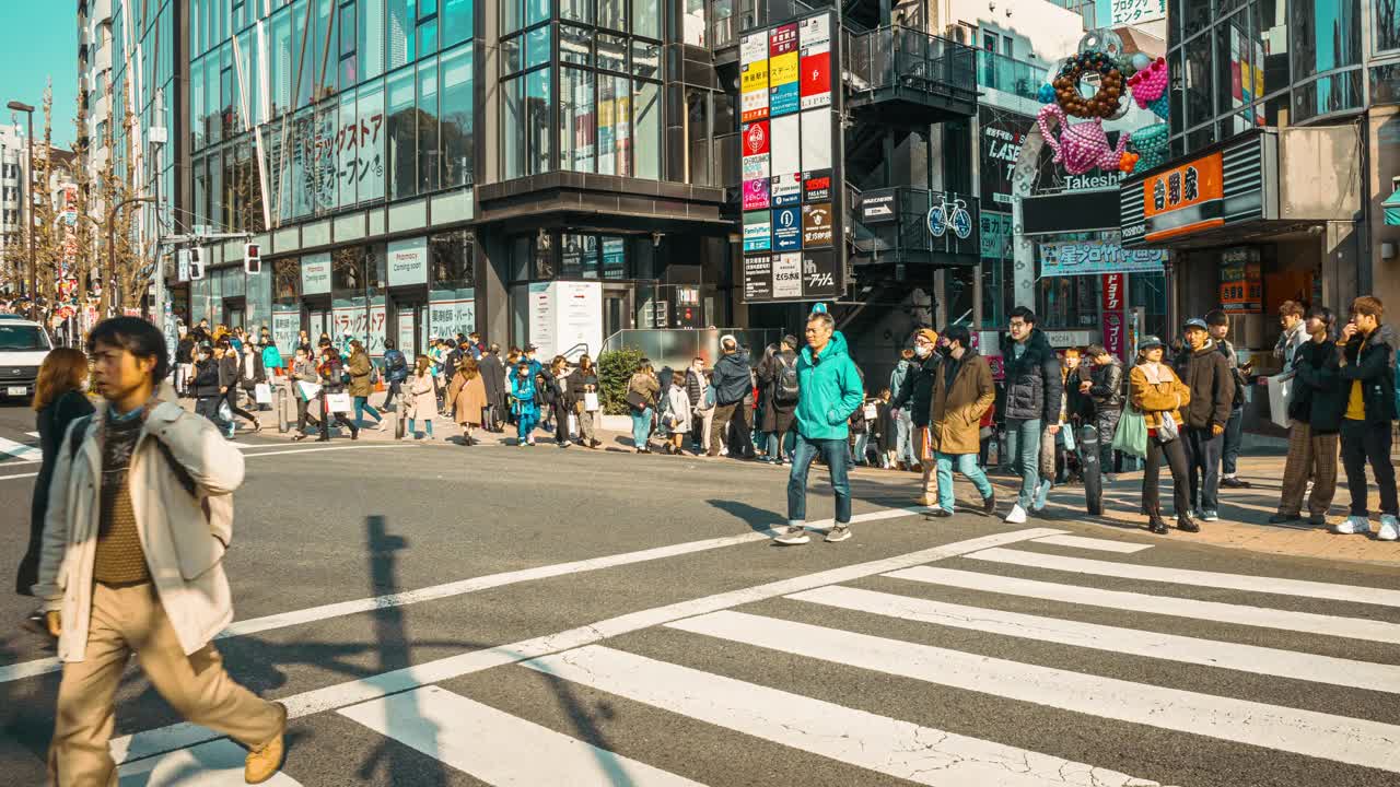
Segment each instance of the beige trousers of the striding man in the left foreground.
M281 732L281 711L224 672L213 644L185 655L155 585L92 591L87 655L63 665L59 711L49 746L49 784L116 787L108 751L115 723L113 695L129 655L176 713L245 746L260 746Z

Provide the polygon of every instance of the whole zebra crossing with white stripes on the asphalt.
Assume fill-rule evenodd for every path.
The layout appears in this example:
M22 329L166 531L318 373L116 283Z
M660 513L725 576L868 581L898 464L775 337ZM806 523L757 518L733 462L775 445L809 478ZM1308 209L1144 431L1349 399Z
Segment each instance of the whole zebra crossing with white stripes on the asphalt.
M1368 644L1400 643L1396 591L1170 569L1152 559L1151 543L1025 532L1019 542L981 539L976 548L913 553L918 564L890 559L829 570L472 651L452 657L452 665L419 665L417 683L402 675L371 678L385 690L343 702L321 692L316 713L498 786L755 783L729 780L715 767L742 762L741 752L755 745L938 787L1161 787L1187 779L1379 784L1400 774L1400 716L1371 718L1375 713L1366 711L1393 707L1400 693L1400 651ZM1047 578L991 569L1035 570ZM1149 595L1093 584L1117 578L1161 590ZM1184 595L1197 588L1211 588L1212 598L1239 598ZM1309 599L1310 609L1334 609L1270 605L1299 598ZM1119 625L1084 619L1105 613L1116 615ZM1366 613L1376 618L1359 616ZM585 630L592 633L578 633ZM1308 637L1292 636L1298 633ZM1372 655L1338 655L1348 646ZM1385 655L1375 660L1378 653ZM466 658L476 664L465 667ZM1158 665L1144 675L1169 679L1134 679L1114 669L1126 660ZM769 662L791 667L755 667ZM462 683L441 685L477 671L490 671L490 685L519 692L473 697ZM808 671L829 678L813 686L804 679ZM909 682L920 686L917 702L857 707L858 697L837 697L832 675L860 685ZM652 716L647 727L655 727L655 735L610 744L588 734L577 717L545 718L524 699L511 699L531 686L538 690L540 678L610 697L610 714L659 714L655 718L713 728L734 751L706 749L678 767L675 756L661 758L657 748L686 741L671 737ZM1302 689L1270 693L1273 679ZM1329 702L1336 692L1385 699ZM1043 727L1040 714L1057 721L1039 735L994 724L969 728L956 709L980 706L969 706L967 697L988 703L988 718L1015 718L1012 728ZM295 710L297 697L290 700L294 717L308 716ZM942 714L946 724L925 718L937 718L945 706L955 709ZM1109 724L1120 725L1114 730L1121 744L1100 739ZM1128 741L1140 738L1123 730L1141 730L1149 741L1166 735L1168 752L1189 749L1204 765L1187 769L1176 758L1148 753L1138 762ZM315 745L312 737L301 751L293 748L276 784L326 784L315 767L298 766L315 759L304 751ZM154 756L139 752L140 759L129 755L120 784L238 784L241 756L232 755L241 749L230 746L204 741ZM1274 779L1249 770L1249 763L1263 767L1257 763L1278 756L1295 758L1288 760L1294 767L1316 766L1327 777Z

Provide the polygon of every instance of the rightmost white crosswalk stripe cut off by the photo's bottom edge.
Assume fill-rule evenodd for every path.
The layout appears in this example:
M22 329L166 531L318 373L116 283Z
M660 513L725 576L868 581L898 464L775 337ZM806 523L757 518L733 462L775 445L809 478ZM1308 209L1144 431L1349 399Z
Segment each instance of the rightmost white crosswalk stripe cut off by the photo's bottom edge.
M524 667L917 784L1156 784L602 646Z

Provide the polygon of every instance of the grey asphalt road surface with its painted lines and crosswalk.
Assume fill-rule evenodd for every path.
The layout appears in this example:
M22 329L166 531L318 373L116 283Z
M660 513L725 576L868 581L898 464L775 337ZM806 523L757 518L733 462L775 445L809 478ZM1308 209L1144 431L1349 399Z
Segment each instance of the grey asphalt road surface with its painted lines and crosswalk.
M29 419L0 409L0 438L29 440ZM925 520L900 510L911 476L874 471L854 478L854 538L780 548L763 531L787 475L755 464L241 443L237 623L218 647L295 717L274 784L1400 779L1390 570ZM22 458L0 461L7 556L27 534ZM812 490L818 525L819 472ZM0 595L0 620L29 609ZM53 669L42 640L0 626L7 784L42 783ZM241 749L178 723L132 667L122 787L242 783Z

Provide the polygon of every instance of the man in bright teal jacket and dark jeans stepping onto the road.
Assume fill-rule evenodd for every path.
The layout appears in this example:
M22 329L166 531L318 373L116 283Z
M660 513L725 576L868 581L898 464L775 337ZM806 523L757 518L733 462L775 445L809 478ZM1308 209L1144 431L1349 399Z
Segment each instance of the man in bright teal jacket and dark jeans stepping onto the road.
M783 545L806 543L806 472L818 454L832 472L836 524L826 541L851 538L851 485L847 419L865 399L865 385L855 361L846 351L846 337L836 332L832 315L812 312L806 321L806 347L797 361L797 447L788 476L788 527L774 539Z

